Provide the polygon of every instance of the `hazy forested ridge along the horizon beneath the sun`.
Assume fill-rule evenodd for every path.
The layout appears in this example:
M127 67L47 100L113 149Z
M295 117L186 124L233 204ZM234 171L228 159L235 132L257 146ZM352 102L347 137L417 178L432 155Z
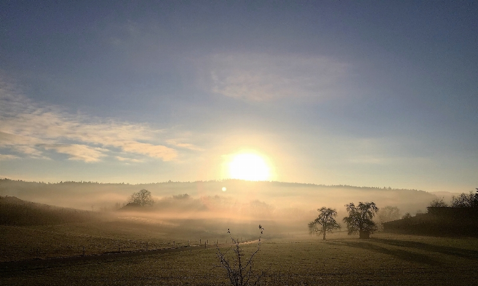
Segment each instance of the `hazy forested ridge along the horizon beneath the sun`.
M352 201L375 201L379 207L397 206L402 212L417 213L437 196L420 190L392 189L390 187L354 187L347 185L324 186L315 184L252 182L242 180L162 182L150 184L97 183L97 182L25 182L0 179L0 195L20 199L74 207L84 210L113 210L128 202L129 196L141 189L151 192L153 199L178 194L206 201L207 197L219 196L221 201L254 202L268 209L288 209L289 212L316 211L321 206L335 207L339 213ZM226 191L223 191L223 190ZM218 199L212 201L219 201ZM296 209L293 210L293 209ZM343 210L342 210L343 209Z

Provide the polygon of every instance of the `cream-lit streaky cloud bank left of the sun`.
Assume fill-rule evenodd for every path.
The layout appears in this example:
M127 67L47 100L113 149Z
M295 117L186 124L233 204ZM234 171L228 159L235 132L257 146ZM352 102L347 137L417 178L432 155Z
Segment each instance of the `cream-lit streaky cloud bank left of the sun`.
M54 150L69 155L71 160L84 162L99 162L109 156L130 162L140 162L137 156L172 161L178 156L175 147L200 150L190 143L163 138L167 130L144 123L69 113L60 106L33 102L10 86L0 84L0 148L13 153L4 155L4 159L18 156L45 159L48 158L45 151ZM122 155L115 156L119 152Z

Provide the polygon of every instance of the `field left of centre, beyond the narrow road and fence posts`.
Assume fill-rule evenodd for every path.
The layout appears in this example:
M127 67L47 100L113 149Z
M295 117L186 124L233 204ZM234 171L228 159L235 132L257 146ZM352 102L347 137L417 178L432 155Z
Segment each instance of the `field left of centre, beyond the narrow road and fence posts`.
M139 218L137 218L139 219ZM216 224L219 224L216 222ZM243 240L247 226L239 226ZM98 255L124 251L163 249L174 246L226 243L225 227L209 225L208 221L177 220L148 223L134 219L113 219L82 223L37 226L0 225L0 262L70 257L83 254ZM239 238L239 239L240 239Z

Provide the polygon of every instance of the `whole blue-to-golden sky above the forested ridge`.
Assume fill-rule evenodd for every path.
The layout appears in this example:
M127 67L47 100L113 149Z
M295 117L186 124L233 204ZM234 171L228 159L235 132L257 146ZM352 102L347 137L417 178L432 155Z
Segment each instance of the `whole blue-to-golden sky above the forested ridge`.
M471 191L477 107L476 1L0 2L2 178Z

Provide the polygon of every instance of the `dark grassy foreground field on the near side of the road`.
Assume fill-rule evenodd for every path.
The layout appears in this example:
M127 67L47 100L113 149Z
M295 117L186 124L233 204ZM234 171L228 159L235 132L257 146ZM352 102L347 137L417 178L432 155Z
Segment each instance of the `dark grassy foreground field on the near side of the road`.
M254 245L244 246L251 252ZM227 285L215 249L5 268L1 285ZM265 239L260 285L477 285L478 240L343 233Z

